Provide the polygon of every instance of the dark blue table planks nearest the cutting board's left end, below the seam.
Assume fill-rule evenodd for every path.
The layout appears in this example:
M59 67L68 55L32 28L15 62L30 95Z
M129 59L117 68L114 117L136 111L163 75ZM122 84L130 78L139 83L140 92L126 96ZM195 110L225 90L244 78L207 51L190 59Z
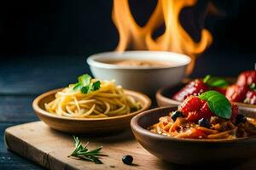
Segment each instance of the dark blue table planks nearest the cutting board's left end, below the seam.
M38 120L32 112L34 96L0 96L0 169L43 169L32 161L26 160L6 149L4 144L4 130L24 122Z

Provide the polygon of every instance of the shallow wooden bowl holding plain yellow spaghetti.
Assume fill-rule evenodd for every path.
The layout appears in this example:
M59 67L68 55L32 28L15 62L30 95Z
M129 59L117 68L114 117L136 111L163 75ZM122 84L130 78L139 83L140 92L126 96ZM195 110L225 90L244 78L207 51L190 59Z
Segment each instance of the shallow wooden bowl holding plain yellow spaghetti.
M142 111L148 110L151 100L148 96L130 90L125 90L125 94L141 102L142 108L139 111L123 116L110 116L103 118L73 118L57 116L45 111L44 104L55 99L55 94L61 89L55 89L39 95L32 103L33 110L39 119L49 127L65 133L113 133L130 127L131 118Z

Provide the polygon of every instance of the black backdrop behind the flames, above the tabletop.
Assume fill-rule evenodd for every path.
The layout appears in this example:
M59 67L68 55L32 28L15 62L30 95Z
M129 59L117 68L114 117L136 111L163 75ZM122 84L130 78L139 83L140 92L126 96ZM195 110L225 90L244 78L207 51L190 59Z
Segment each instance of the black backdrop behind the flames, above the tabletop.
M130 2L132 13L142 26L157 1ZM209 14L205 23L214 37L214 51L253 52L255 42L249 40L256 35L255 2L199 0L194 8L199 20L206 2L212 2L220 11ZM118 33L111 20L111 10L112 0L3 1L0 4L0 54L86 55L113 50ZM191 18L185 16L181 14L182 22Z

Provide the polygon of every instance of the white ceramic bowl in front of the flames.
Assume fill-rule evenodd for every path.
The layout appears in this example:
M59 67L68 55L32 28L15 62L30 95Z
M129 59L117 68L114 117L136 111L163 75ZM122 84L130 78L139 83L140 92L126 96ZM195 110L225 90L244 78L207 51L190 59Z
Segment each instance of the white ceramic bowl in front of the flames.
M109 64L124 59L155 60L171 63L164 66L128 66ZM106 52L87 59L93 76L102 80L115 79L123 88L154 96L158 88L173 86L185 77L190 58L165 51Z

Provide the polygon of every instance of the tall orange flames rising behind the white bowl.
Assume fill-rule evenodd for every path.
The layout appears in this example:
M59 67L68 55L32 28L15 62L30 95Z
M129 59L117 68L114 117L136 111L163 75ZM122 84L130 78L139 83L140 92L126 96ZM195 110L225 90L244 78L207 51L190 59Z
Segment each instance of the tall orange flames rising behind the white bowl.
M192 62L188 73L195 65L197 54L201 54L212 42L212 35L206 29L201 31L201 41L194 42L181 26L178 16L182 8L192 6L196 0L159 0L145 26L138 26L134 20L128 0L113 0L113 23L119 31L117 51L128 47L137 50L165 50L187 54ZM165 32L153 39L152 35L160 26Z

